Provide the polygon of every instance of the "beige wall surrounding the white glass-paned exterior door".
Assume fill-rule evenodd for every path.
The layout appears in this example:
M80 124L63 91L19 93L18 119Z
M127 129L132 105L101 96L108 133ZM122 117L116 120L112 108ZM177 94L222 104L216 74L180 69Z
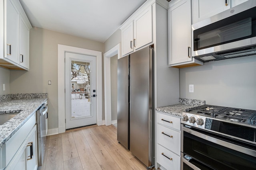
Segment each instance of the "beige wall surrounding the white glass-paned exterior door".
M58 44L104 53L104 43L98 41L37 27L30 30L30 70L10 70L10 93L47 92L49 129L58 128Z

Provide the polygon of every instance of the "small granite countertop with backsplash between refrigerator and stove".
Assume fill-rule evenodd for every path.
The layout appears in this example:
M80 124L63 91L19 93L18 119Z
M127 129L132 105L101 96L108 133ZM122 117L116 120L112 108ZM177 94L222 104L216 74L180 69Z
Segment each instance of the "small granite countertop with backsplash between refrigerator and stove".
M164 106L164 107L157 107L156 111L181 117L182 111L185 111L186 109L191 107L202 106L204 104L205 104L204 100L179 98L179 104L174 104L174 105Z

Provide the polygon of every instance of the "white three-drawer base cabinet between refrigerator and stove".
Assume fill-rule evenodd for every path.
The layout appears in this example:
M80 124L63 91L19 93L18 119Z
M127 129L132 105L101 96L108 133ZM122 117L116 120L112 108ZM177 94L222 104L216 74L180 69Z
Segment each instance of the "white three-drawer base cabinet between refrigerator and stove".
M180 118L156 112L157 163L160 169L180 169Z

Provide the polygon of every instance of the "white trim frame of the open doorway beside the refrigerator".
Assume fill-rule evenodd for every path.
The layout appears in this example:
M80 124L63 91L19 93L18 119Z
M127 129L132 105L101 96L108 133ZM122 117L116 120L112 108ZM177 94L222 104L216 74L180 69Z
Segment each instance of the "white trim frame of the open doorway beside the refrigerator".
M110 58L118 55L118 59L121 58L120 55L120 43L115 47L104 53L104 116L105 125L111 125L111 79L110 79Z

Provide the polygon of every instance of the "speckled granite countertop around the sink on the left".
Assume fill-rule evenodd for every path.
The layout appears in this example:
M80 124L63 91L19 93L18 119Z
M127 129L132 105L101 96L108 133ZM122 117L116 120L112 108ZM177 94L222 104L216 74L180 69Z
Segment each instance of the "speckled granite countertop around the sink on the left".
M22 98L0 102L0 114L20 112L0 125L0 149L46 100L47 98Z

